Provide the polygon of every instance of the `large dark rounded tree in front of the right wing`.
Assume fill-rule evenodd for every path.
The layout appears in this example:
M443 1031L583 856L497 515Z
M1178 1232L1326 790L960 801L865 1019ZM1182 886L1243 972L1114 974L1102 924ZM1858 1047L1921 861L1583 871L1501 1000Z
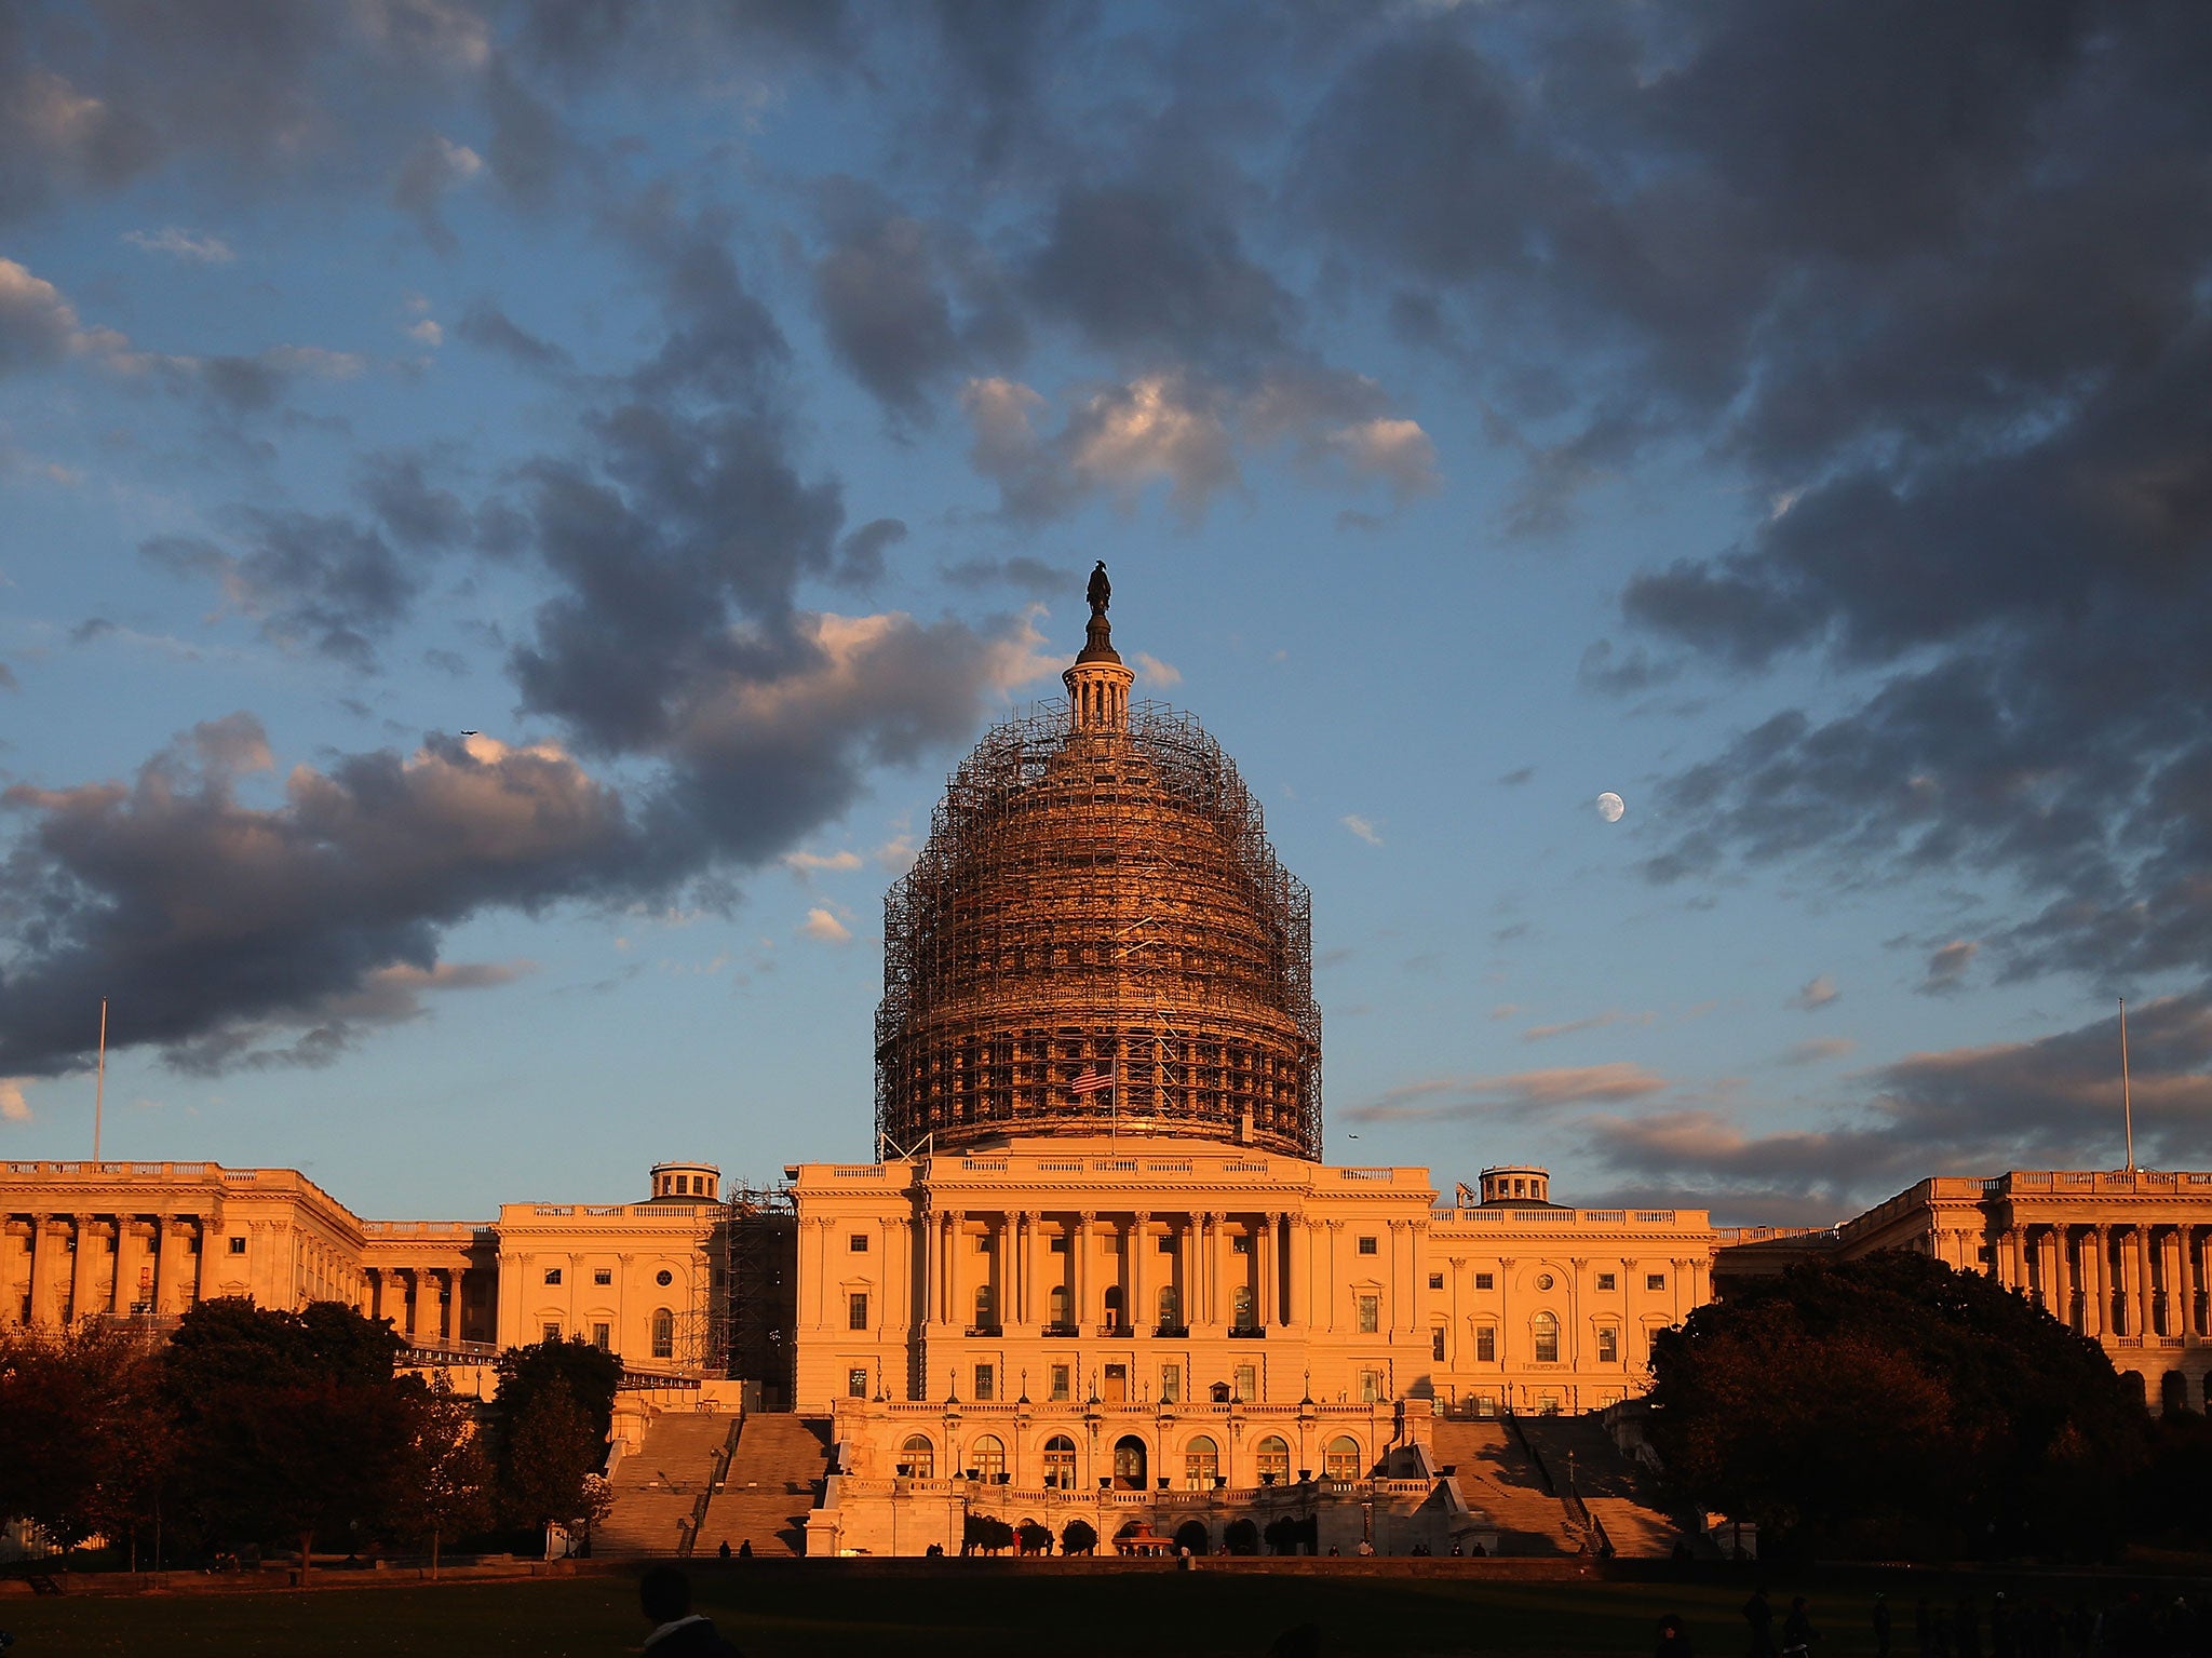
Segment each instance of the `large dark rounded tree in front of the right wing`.
M2101 1554L2146 1417L2104 1351L1927 1256L1796 1267L1652 1344L1650 1439L1761 1545Z

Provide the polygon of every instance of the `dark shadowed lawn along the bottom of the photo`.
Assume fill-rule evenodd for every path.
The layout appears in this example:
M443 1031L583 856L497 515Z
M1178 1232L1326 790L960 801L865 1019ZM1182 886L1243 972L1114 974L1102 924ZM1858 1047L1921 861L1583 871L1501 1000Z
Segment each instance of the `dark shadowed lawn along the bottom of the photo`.
M1376 1563L1380 1565L1380 1563ZM1265 1654L1285 1629L1314 1623L1323 1654L1648 1654L1663 1612L1688 1618L1703 1658L1745 1649L1741 1605L1750 1581L1509 1581L1493 1574L1135 1572L1055 1570L1018 1563L938 1563L933 1570L867 1563L754 1563L695 1570L699 1609L748 1658L796 1654ZM13 1585L11 1585L13 1587ZM1896 1651L1911 1651L1913 1603L1944 1605L2008 1587L2015 1603L2048 1596L2070 1609L2121 1598L2115 1578L1966 1581L1931 1574L1776 1574L1776 1614L1807 1594L1823 1631L1820 1658L1874 1651L1869 1605L1885 1587L1896 1609ZM2168 1603L2205 1587L2137 1585ZM498 1583L387 1583L307 1592L139 1594L60 1598L0 1596L9 1658L254 1658L257 1654L504 1654L635 1651L646 1634L633 1576Z

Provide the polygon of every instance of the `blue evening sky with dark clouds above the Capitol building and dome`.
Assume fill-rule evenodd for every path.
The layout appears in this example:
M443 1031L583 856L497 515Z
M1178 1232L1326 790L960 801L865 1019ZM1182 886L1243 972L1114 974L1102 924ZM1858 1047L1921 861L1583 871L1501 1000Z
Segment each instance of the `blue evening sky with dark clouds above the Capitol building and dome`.
M0 1156L869 1152L1093 559L1329 1154L2212 1165L2212 9L0 9ZM1628 811L1608 825L1599 791ZM1356 1136L1356 1138L1354 1138Z

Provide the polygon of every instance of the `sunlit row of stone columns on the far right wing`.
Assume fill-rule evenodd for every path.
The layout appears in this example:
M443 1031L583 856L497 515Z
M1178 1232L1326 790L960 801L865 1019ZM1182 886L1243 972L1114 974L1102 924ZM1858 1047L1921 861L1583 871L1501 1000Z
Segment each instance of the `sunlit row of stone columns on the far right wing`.
M1982 1234L1958 1234L1953 1265L1978 1265L1980 1247ZM2026 1220L1991 1238L1989 1269L2084 1335L2181 1337L2205 1333L2203 1251L2205 1229L2188 1222Z

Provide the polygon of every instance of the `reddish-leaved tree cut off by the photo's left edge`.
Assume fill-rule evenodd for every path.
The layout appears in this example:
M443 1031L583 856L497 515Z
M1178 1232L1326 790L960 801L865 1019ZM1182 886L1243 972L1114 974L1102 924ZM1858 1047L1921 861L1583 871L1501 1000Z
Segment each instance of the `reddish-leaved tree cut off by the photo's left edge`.
M131 1331L0 1329L0 1514L71 1547L131 1534L173 1455L157 1366Z

